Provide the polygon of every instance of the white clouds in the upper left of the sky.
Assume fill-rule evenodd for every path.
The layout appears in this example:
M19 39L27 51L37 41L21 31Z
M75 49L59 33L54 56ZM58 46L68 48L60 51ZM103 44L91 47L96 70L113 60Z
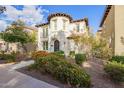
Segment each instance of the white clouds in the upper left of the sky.
M44 13L48 13L48 10L43 9L41 6L23 6L21 10L14 6L6 6L6 11L3 13L2 21L0 24L2 27L0 30L4 30L8 22L13 22L15 20L21 19L27 25L34 26L44 22ZM0 25L1 26L1 25Z

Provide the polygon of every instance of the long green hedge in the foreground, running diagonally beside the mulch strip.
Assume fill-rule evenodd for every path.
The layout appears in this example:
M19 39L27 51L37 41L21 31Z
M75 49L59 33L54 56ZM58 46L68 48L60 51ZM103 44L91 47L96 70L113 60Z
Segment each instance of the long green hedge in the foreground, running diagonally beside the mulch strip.
M54 54L38 58L34 65L32 67L42 73L49 73L57 80L70 84L72 87L90 87L90 76L82 68Z

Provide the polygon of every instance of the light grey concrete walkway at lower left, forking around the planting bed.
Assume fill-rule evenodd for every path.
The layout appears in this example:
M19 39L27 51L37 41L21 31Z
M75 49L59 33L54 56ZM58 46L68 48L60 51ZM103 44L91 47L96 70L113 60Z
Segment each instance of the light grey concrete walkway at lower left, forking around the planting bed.
M15 69L32 64L33 61L19 64L0 64L0 87L1 88L56 88L44 81L37 80Z

